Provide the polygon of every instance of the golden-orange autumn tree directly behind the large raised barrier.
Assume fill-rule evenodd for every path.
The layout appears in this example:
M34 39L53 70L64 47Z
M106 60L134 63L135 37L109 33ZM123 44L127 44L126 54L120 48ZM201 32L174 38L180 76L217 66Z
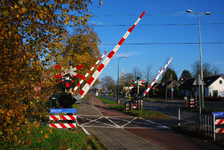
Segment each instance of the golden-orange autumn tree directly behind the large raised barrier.
M69 61L73 61L73 66L83 65L83 68L78 70L77 73L85 75L89 69L100 58L100 50L98 45L101 43L97 33L94 32L92 27L88 25L82 28L78 27L73 31L72 35L65 34L62 38L64 46L58 49L59 55L55 58L60 66L69 69ZM98 64L99 65L99 64ZM80 88L85 85L91 75L95 72L98 66L90 73L85 81L80 85ZM73 79L75 84L80 81L79 78Z

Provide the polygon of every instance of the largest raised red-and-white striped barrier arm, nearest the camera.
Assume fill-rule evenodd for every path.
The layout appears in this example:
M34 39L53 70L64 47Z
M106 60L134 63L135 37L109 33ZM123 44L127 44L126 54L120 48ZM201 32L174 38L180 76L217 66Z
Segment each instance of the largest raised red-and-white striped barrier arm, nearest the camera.
M132 30L135 28L135 26L138 24L138 22L141 20L143 15L145 14L145 11L141 14L141 16L137 19L137 21L134 23L134 25L128 29L128 31L124 34L124 36L121 38L121 40L118 42L118 44L114 47L114 49L107 55L107 57L104 59L104 61L101 63L101 65L97 68L97 70L94 72L92 77L87 81L87 83L84 85L82 90L79 92L75 98L79 101L82 97L85 96L85 94L88 92L90 87L93 85L93 83L96 81L96 79L99 77L99 75L102 73L104 68L107 66L107 64L110 62L111 58L114 56L114 54L118 51L122 43L125 41L125 39L129 36L129 34L132 32Z

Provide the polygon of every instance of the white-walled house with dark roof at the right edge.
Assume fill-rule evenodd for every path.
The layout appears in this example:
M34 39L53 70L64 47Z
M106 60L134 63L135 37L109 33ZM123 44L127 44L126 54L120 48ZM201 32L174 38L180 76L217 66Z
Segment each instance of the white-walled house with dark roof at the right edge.
M179 86L180 92L184 95L194 95L197 90L199 94L198 86L194 86L195 78L186 79L182 85ZM204 95L205 97L224 97L224 78L222 76L210 76L204 77Z

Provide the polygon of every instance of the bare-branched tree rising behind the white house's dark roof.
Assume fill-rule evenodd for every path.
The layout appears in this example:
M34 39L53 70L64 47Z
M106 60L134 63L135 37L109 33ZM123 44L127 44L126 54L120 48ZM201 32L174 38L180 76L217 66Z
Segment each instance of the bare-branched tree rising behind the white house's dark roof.
M198 75L201 75L201 62L195 61L192 66L192 75L194 78L196 78ZM209 76L215 76L220 75L220 70L217 66L212 66L209 63L204 62L203 63L203 77L209 77Z

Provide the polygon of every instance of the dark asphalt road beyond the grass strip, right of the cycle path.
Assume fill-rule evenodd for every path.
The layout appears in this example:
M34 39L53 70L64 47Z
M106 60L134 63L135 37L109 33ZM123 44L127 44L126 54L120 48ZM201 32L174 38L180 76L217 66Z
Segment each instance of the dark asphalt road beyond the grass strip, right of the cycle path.
M102 97L117 101L117 97L109 96L109 95L101 95ZM125 100L127 98L119 98L121 104L125 104ZM145 110L155 110L160 111L163 114L171 117L177 117L177 109L179 107L185 107L185 101L184 100L170 100L168 102L152 102L152 101L143 101L143 109ZM224 103L223 102L207 102L205 101L205 107L206 108L217 108L224 110Z

